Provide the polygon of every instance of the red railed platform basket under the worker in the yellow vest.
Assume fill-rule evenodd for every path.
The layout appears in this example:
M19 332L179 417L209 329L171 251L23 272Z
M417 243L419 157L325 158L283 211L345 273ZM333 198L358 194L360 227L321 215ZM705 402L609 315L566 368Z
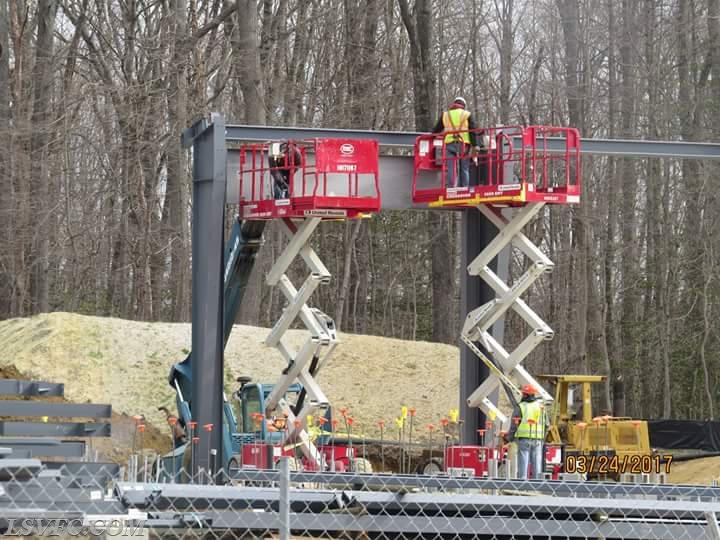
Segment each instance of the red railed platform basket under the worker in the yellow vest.
M461 132L416 139L413 202L430 207L580 202L580 135L576 129L509 126L470 130L468 133L482 141L481 151L461 158L451 155L444 143L454 133ZM556 139L554 151L551 138ZM460 159L469 165L468 186L459 182Z

